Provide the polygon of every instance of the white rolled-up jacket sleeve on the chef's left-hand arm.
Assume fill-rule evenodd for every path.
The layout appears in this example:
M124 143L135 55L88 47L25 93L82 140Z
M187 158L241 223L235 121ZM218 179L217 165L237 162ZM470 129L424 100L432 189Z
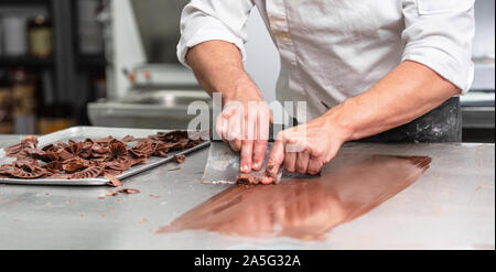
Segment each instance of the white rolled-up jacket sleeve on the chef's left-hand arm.
M246 22L252 0L192 0L181 15L181 40L177 58L186 67L187 51L201 43L222 40L235 44L246 58L248 41Z

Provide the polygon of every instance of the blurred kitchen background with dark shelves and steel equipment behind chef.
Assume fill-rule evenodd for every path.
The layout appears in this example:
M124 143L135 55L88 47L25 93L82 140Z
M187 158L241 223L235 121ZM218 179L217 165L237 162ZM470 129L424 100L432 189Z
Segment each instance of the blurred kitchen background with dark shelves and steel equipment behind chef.
M0 0L0 134L72 126L185 129L209 102L176 59L187 0ZM494 142L495 1L476 1L475 81L462 97L465 142ZM276 100L279 56L254 10L246 69Z

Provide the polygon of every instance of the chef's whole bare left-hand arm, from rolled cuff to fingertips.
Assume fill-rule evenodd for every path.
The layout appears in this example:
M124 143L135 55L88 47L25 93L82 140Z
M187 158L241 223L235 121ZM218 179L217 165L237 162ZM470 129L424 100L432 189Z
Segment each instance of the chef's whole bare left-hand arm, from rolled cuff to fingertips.
M259 170L266 155L271 113L246 74L239 50L228 42L208 41L191 48L186 61L211 96L222 93L225 107L217 117L216 131L233 150L240 151L240 171ZM239 104L228 105L235 101Z

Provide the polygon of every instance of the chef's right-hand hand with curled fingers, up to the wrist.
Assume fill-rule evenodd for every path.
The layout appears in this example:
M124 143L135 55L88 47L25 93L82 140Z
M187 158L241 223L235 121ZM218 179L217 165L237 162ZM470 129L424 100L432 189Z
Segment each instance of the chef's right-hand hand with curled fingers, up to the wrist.
M283 163L290 173L316 175L349 139L351 132L322 116L279 132L270 151L267 168L277 174ZM262 183L272 183L272 177L265 176Z

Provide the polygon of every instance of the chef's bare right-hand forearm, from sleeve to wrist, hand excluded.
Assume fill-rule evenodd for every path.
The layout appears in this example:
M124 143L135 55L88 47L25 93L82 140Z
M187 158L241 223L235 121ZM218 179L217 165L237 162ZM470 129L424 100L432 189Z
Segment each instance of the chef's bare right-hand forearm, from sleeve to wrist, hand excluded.
M457 94L460 89L429 67L405 62L324 116L346 131L346 140L357 140L408 123Z

